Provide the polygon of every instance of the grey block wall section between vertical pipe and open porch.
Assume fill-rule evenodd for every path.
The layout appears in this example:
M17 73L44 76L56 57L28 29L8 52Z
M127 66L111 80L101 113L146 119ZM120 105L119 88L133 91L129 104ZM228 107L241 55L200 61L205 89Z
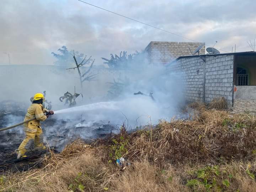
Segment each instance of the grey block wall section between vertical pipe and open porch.
M234 55L207 55L205 63L205 101L224 96L229 105L233 100Z

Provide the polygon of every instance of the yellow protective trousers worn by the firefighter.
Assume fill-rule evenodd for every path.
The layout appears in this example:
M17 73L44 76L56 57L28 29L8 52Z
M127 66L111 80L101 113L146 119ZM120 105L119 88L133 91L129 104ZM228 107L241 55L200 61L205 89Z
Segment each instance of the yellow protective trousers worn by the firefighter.
M37 126L33 131L25 131L26 137L23 139L17 151L20 151L21 154L25 154L27 150L32 148L34 143L34 148L45 149L43 144L43 131L42 128Z

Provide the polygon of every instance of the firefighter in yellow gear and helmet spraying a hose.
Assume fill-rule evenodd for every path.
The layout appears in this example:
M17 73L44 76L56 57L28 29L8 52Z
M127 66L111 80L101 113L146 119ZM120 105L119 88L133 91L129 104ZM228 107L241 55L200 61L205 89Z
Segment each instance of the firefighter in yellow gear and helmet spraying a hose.
M25 131L26 137L20 144L19 148L15 150L17 159L27 157L26 151L31 148L34 143L34 149L45 150L46 146L43 144L43 131L40 127L40 121L45 121L49 114L53 114L53 111L48 111L43 107L44 95L37 93L32 99L32 104L27 110L24 121L36 117L28 123L25 123L23 130ZM46 113L46 114L44 114Z

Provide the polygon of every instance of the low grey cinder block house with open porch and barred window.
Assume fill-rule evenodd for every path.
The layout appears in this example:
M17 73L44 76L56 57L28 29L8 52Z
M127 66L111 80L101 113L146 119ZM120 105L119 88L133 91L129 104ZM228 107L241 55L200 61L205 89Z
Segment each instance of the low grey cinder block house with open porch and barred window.
M238 111L256 111L256 52L181 56L166 68L183 75L190 102L223 96Z

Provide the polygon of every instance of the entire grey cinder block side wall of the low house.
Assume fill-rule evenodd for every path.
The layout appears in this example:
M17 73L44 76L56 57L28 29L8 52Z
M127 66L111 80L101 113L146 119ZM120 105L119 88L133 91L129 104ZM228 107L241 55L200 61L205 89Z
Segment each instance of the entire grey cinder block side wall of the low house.
M229 105L233 103L234 55L202 55L180 57L167 66L167 73L176 71L183 76L187 101L210 102L224 96Z

